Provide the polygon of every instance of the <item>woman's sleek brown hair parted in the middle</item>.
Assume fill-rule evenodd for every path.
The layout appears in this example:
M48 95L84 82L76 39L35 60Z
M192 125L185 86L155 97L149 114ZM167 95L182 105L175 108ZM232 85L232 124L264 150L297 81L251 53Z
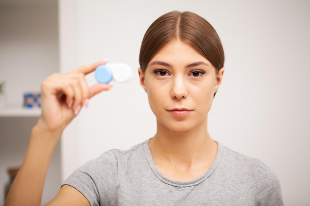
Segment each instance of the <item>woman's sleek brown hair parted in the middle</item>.
M222 43L207 20L193 12L171 11L157 18L143 38L139 56L143 72L156 53L174 39L180 39L196 49L217 72L224 66Z

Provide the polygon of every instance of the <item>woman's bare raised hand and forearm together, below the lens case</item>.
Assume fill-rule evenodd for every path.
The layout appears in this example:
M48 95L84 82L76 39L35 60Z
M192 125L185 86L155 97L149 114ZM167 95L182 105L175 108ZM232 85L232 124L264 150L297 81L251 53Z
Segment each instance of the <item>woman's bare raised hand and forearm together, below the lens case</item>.
M88 100L111 85L97 83L89 87L85 75L106 61L82 66L66 74L53 74L42 83L42 113L31 131L23 164L6 197L5 206L40 206L45 178L52 154L63 129L87 106ZM45 137L45 138L44 138ZM75 197L76 191L70 190ZM72 196L70 196L72 198ZM84 200L86 205L87 200ZM80 202L81 203L81 202Z

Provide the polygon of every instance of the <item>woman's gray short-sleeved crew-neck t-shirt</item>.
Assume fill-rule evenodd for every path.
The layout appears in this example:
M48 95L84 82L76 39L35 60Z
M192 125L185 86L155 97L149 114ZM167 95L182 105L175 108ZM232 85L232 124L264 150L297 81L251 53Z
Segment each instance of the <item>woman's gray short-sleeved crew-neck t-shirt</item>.
M192 181L163 176L147 140L103 153L64 185L79 190L91 206L283 206L280 183L268 167L219 143L213 164Z

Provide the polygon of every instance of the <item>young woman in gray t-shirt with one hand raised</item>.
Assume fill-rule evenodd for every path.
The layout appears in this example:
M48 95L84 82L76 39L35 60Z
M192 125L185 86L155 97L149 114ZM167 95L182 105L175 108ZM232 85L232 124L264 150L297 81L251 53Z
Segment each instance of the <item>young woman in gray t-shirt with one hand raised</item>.
M42 83L42 115L5 206L39 206L63 129L108 84L85 75L105 61ZM208 134L207 116L224 69L221 41L191 12L169 12L150 26L140 51L140 84L156 116L153 138L111 150L78 168L48 206L283 206L280 184L260 161Z

